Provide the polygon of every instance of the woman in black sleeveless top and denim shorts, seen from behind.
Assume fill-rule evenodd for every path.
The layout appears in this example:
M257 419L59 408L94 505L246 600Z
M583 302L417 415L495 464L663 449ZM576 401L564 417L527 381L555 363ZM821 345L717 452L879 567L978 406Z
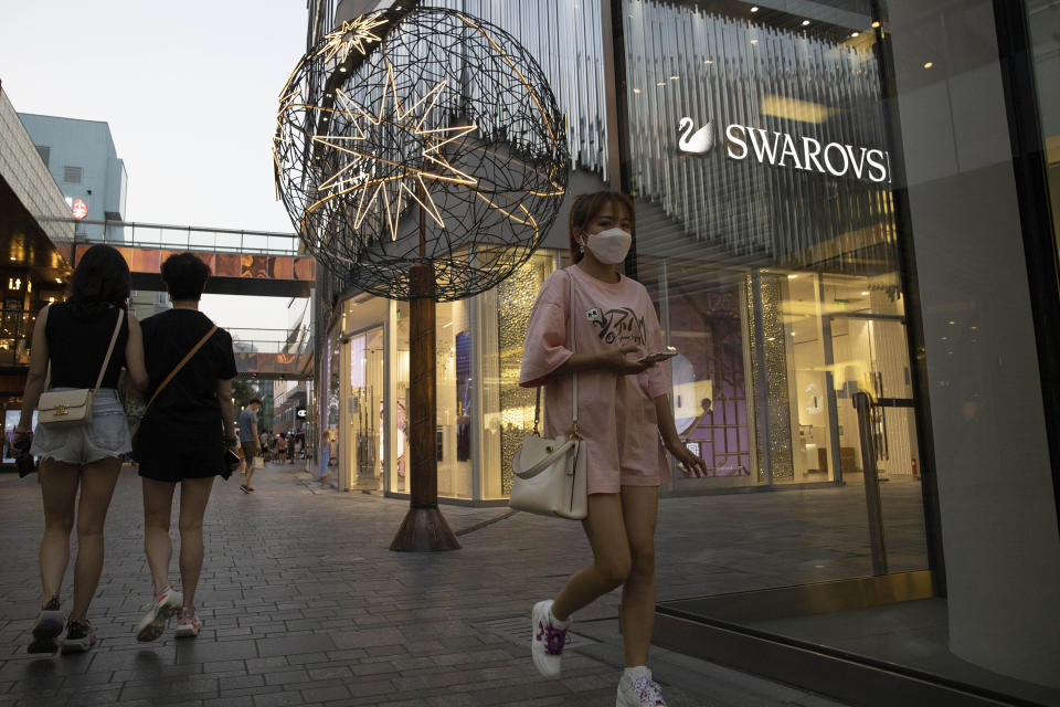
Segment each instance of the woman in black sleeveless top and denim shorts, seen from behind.
M95 627L87 618L88 604L103 571L107 508L121 471L121 456L131 449L117 392L121 367L128 369L134 386L147 387L140 325L128 312L130 277L121 254L109 245L93 245L77 263L71 285L66 302L49 305L38 315L22 414L14 433L15 444L32 437L30 454L41 458L44 500L40 555L44 601L32 630L30 653L54 653L60 647L65 622L60 590L70 562L75 517L74 604L65 623L62 651L87 651L96 642ZM46 379L51 379L51 390L94 388L112 340L110 360L93 399L92 421L60 429L39 425L34 434L33 410L49 383Z

